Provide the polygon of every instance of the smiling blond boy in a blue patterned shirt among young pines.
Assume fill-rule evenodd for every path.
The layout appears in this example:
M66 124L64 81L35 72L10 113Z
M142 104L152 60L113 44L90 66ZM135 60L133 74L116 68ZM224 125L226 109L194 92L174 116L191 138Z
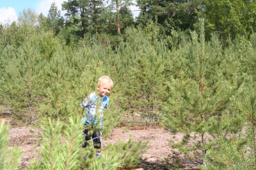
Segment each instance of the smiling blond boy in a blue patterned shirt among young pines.
M104 75L98 80L97 91L94 91L88 97L84 98L83 102L81 103L81 116L83 116L84 109L86 108L86 115L83 118L84 125L91 123L91 125L95 127L98 116L100 116L99 129L102 128L102 118L104 116L103 111L105 108L108 108L108 94L111 91L111 88L113 88L113 81L108 76ZM88 146L87 141L91 139L90 135L92 135L94 148L101 148L102 133L100 131L90 134L90 128L86 126L83 133L85 135L84 144L82 146L83 148Z

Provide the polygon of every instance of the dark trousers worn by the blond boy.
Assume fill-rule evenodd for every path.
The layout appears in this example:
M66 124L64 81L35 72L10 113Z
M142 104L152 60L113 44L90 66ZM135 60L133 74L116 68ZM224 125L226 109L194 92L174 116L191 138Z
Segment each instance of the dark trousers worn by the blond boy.
M88 146L88 141L91 139L90 134L88 133L88 128L84 128L83 134L84 134L84 144L82 145L82 148L86 148ZM96 149L101 148L101 132L93 132L92 139L93 139L93 146Z

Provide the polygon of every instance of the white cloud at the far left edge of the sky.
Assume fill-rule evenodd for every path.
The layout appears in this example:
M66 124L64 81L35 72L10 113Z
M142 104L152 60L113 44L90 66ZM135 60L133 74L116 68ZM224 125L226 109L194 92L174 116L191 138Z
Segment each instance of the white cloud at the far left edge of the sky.
M14 20L17 20L18 17L15 13L15 10L12 7L0 8L0 22L2 24L11 24Z

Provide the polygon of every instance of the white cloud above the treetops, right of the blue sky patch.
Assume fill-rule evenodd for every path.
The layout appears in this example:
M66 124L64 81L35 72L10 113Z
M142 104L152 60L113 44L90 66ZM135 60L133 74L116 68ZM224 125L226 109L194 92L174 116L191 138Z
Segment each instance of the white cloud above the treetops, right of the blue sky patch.
M61 4L63 1L68 0L55 0L56 5L58 6L58 10L61 11ZM51 8L51 4L53 3L53 0L42 0L40 1L36 6L36 13L39 15L40 13L43 13L45 17L47 17L49 10ZM65 12L61 11L61 15L64 15Z

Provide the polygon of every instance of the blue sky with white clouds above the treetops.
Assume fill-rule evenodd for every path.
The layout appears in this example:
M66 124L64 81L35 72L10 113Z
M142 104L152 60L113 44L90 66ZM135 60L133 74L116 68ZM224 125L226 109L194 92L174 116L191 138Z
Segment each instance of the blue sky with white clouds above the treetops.
M43 13L48 15L51 4L54 0L0 0L0 23L11 24L14 20L17 20L19 13L23 10L31 8L37 14ZM58 6L58 10L61 10L61 3L68 0L55 0ZM131 6L131 10L138 10L136 6ZM61 11L64 15L65 12ZM138 12L134 12L134 17L138 16Z

